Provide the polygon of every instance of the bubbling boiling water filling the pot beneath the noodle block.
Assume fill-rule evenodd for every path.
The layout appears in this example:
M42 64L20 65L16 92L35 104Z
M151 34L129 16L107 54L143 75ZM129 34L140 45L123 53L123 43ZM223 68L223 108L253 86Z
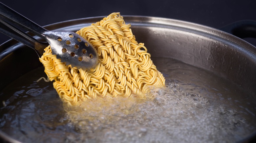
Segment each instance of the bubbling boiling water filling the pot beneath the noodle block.
M1 94L0 128L22 142L236 142L256 131L255 101L247 92L210 72L174 59L153 61L166 88L154 98L96 99L63 105L43 68Z

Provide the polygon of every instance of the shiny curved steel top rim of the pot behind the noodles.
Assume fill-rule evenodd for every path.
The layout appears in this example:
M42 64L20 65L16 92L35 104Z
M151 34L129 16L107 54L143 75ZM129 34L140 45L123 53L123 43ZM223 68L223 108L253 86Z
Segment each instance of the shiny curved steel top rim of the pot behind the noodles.
M79 30L81 26L87 26L90 25L91 23L95 23L97 21L100 21L102 18L104 18L106 16L95 16L95 17L86 17L86 18L78 18L78 19L72 19L72 20L66 20L66 21L61 21L61 22L57 22L57 23L53 23L53 24L48 24L45 26L42 26L44 28L46 28L47 30L73 30L75 28L77 28L77 30ZM232 39L238 39L238 40L242 40L243 42L246 43L246 45L250 45L253 47L252 50L255 50L255 46L250 44L249 42L240 39L232 34L229 34L227 32L224 32L222 30L210 27L210 26L206 26L203 24L197 24L197 23L193 23L193 22L187 22L187 21L183 21L183 20L178 20L178 19L171 19L171 18L163 18L163 17L155 17L155 16L140 16L140 15L123 15L123 18L125 20L125 22L129 23L132 20L132 22L130 23L132 26L134 25L140 25L139 23L143 20L143 21L147 21L147 23L151 23L152 25L157 24L158 26L161 27L168 27L168 25L171 26L176 26L176 27L181 27L181 28L186 28L186 29L193 29L194 31L200 31L200 32L204 32L204 33L208 33L210 35L213 36L226 36L225 39L227 40L231 40ZM86 24L84 23L84 21L88 21ZM91 23L89 23L91 21ZM77 24L78 22L78 24ZM89 24L88 24L89 23ZM64 24L68 25L65 26ZM61 27L61 28L60 28ZM31 34L32 35L32 34ZM36 36L37 37L37 36ZM5 46L8 42L11 41L16 41L14 39L10 39L5 41L4 43L0 44L0 49L1 47ZM16 41L17 43L19 43L18 41ZM244 44L244 43L242 43Z

